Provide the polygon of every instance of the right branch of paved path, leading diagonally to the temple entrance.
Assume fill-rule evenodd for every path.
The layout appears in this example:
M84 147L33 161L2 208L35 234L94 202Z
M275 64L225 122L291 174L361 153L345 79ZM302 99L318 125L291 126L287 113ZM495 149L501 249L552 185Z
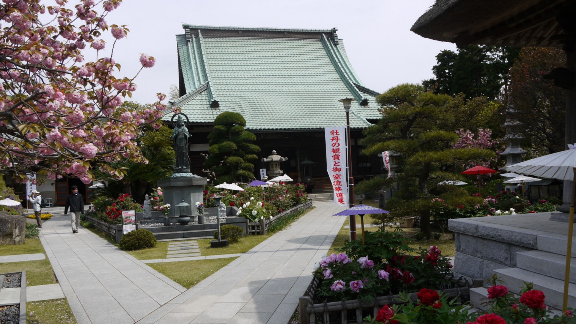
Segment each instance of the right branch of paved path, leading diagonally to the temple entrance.
M239 255L138 323L286 324L312 280L314 263L327 253L346 219L332 217L344 209L332 202L314 205L315 209L290 227Z

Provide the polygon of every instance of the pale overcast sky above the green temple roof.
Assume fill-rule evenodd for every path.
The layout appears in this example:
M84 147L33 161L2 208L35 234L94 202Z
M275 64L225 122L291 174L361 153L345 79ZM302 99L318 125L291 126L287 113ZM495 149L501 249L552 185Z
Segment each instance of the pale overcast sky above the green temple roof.
M73 1L74 2L74 1ZM127 25L127 38L116 42L113 58L122 65L116 76L134 77L140 54L156 65L135 80L132 99L141 104L168 95L178 84L176 35L183 24L227 27L338 28L348 58L365 86L385 92L401 83L433 77L435 56L456 50L452 43L426 39L410 31L434 0L123 0L106 18ZM112 44L111 36L106 37ZM108 48L108 46L107 46ZM88 58L88 57L87 57ZM166 102L166 101L165 101Z

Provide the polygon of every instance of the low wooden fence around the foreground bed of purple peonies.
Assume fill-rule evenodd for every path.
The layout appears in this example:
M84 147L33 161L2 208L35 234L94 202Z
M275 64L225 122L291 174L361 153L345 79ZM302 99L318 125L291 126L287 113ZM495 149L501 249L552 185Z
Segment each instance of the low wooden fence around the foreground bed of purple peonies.
M456 298L457 302L468 302L470 298L470 288L482 287L482 280L475 280L473 283L464 278L455 278L447 276L452 287L441 289L444 295L449 298ZM399 295L388 295L374 297L371 302L362 302L361 300L343 300L341 302L319 303L314 304L313 299L320 285L320 278L314 277L304 296L298 301L298 310L300 312L300 324L314 324L316 321L325 324L330 323L362 323L362 319L367 315L373 318L378 314L378 310L384 305L400 304ZM410 298L415 302L418 300L416 292L410 294Z

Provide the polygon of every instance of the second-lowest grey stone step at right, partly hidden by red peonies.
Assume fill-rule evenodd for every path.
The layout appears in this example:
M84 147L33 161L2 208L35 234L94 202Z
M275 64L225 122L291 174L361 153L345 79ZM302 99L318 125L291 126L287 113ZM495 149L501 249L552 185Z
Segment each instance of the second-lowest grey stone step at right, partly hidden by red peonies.
M520 268L497 269L494 272L505 282L510 292L520 293L524 282L532 282L534 289L544 292L547 306L562 309L564 281ZM569 284L568 307L576 307L576 284Z

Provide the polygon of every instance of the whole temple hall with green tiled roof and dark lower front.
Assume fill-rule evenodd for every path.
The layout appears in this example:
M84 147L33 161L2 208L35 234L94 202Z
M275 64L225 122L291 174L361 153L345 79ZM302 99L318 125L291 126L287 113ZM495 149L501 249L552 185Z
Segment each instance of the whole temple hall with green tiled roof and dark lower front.
M171 103L190 118L191 171L200 176L207 135L224 111L244 116L262 151L289 157L281 165L297 180L302 161L314 163L314 179L327 176L324 127L346 126L338 100L354 98L350 110L354 176L381 174L377 157L359 154L362 130L381 115L376 91L355 73L337 29L283 29L183 25L176 36L180 98ZM170 116L166 116L166 121Z

